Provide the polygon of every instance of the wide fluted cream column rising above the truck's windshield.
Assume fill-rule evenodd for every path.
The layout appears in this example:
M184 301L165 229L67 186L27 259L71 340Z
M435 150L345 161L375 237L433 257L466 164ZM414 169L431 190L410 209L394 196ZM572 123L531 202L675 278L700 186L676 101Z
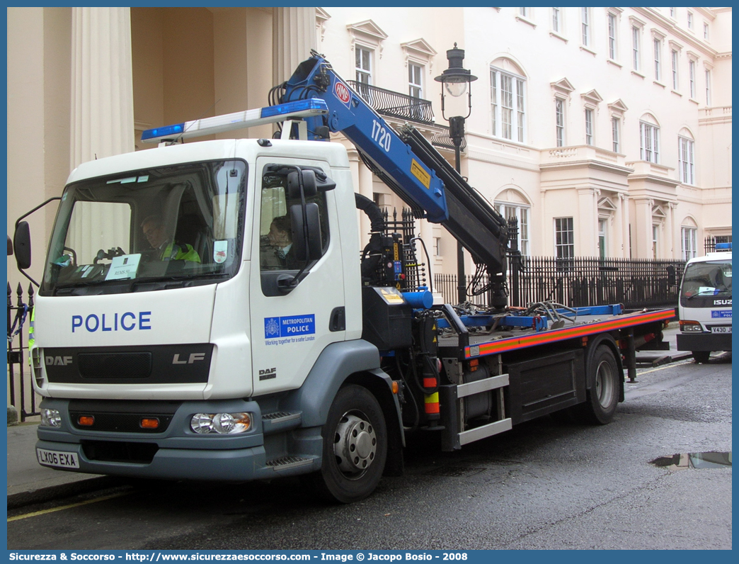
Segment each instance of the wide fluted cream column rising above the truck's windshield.
M70 164L134 150L131 12L72 8Z

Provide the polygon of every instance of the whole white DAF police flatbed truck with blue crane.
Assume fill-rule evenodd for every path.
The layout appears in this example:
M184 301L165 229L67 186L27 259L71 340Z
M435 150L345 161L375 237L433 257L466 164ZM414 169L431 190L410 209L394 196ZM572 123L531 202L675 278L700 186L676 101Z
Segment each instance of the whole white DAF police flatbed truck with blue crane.
M423 136L390 127L317 53L273 93L69 175L34 312L39 463L305 474L350 503L401 473L418 434L454 451L555 412L610 422L636 346L661 340L671 309L509 307L508 225ZM184 142L278 122L279 138ZM355 194L331 132L468 249L489 307L435 303L420 240ZM371 225L361 256L356 209ZM16 242L27 268L25 221Z

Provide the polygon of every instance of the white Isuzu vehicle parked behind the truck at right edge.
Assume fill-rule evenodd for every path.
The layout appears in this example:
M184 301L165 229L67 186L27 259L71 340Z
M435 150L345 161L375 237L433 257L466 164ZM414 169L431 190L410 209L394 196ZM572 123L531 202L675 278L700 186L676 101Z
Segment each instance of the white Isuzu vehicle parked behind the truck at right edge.
M732 349L732 244L685 265L678 309L678 350L706 363L712 351Z

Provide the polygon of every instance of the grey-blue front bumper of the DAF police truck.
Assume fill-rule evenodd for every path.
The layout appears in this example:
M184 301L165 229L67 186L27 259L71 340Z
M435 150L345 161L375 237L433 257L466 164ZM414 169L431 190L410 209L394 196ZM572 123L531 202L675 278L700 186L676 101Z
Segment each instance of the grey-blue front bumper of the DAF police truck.
M76 429L71 425L69 400L44 399L41 407L57 409L63 423L60 429L39 426L36 447L76 453L79 469L66 471L176 480L243 481L275 476L266 464L262 413L253 401L183 402L160 433ZM196 434L189 424L197 412L251 412L252 428L239 435ZM146 460L130 457L131 452L140 451L148 453Z

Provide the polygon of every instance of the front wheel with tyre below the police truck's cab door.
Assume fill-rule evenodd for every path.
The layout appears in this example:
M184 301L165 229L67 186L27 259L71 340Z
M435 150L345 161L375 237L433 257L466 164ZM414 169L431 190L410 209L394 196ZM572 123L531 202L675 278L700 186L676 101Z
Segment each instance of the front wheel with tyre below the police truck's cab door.
M353 503L375 491L387 458L387 429L378 400L362 386L344 386L328 412L323 462L313 474L327 500Z

